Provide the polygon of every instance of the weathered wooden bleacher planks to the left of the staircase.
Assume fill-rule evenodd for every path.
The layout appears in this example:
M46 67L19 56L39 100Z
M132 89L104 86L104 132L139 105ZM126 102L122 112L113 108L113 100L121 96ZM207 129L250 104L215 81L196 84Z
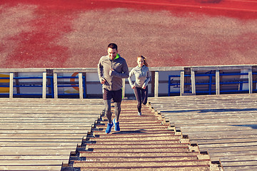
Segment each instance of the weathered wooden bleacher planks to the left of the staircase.
M101 99L0 98L0 170L61 170L100 117Z

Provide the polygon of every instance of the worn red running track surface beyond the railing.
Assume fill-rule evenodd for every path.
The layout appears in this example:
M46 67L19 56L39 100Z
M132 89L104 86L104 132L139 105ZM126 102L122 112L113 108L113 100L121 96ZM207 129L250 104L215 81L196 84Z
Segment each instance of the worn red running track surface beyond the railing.
M1 68L96 67L116 42L129 66L255 64L257 1L0 1Z

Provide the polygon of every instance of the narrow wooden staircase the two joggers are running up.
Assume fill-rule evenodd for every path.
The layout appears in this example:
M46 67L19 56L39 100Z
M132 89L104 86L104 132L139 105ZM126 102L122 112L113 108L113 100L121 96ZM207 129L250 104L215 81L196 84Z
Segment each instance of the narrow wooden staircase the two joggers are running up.
M136 101L124 100L119 121L121 131L107 135L103 113L78 148L79 160L71 161L74 170L210 170L208 155L150 107L143 106L139 116Z

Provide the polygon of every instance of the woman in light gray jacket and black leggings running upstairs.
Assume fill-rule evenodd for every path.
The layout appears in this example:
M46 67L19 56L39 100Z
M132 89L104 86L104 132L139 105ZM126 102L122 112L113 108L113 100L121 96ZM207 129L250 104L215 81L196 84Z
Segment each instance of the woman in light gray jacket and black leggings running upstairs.
M148 98L148 82L151 79L151 73L148 69L148 64L146 63L146 58L143 56L137 57L138 66L133 68L129 73L129 84L136 95L136 100L138 102L138 115L141 115L141 107L146 105ZM135 75L136 81L132 83L131 76Z

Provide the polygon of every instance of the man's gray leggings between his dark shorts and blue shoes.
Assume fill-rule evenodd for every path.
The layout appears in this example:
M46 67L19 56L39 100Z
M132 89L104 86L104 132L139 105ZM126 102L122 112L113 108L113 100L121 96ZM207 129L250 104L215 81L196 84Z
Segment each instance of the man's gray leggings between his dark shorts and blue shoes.
M111 123L111 100L104 100L104 107L105 107L105 113L106 117L108 119L108 122ZM114 113L115 113L115 121L119 122L119 115L121 114L121 102L117 103L114 102Z

